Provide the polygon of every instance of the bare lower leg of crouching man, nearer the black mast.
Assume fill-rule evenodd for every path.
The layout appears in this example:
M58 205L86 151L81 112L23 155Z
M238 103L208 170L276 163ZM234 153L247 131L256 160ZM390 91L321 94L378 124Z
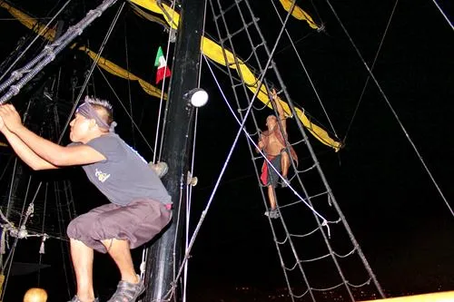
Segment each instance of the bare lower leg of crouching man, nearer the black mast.
M120 269L122 280L129 283L139 283L135 273L133 258L129 248L128 240L105 239L102 241L107 252L114 259L116 266Z

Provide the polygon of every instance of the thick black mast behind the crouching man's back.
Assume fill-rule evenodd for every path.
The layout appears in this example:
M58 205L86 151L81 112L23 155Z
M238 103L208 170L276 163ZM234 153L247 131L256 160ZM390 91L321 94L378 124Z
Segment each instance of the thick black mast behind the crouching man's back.
M163 184L172 196L173 220L148 254L145 275L148 290L143 299L146 302L169 298L164 296L181 265L186 209L179 200L185 196L194 110L183 95L197 87L204 5L205 1L200 0L182 3L163 140L163 161L169 166Z

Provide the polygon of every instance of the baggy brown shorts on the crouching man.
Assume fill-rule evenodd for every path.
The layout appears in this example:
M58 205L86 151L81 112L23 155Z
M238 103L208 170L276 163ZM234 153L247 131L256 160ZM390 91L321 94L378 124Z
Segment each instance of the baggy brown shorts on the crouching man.
M106 253L102 240L128 240L130 248L150 241L169 223L170 205L155 200L134 200L127 206L105 204L73 219L67 229L70 239Z

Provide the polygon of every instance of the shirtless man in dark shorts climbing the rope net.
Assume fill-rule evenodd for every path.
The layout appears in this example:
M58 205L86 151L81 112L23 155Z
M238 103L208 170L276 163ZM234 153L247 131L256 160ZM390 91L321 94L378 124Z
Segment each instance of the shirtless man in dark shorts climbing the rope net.
M266 118L267 131L262 132L258 147L261 151L264 152L268 161L271 162L272 167L268 161L263 162L262 166L262 176L261 180L263 185L267 186L268 189L268 199L270 201L270 210L265 212L266 216L269 216L272 219L279 218L279 212L276 204L276 196L274 188L277 187L278 181L280 179L278 172L281 173L284 180L281 181L282 187L287 187L289 180L287 180L287 175L290 167L290 156L298 164L298 156L293 148L287 148L285 143L287 139L287 122L284 115L284 111L281 106L281 102L278 100L277 93L273 89L271 91L271 103L276 111L279 114L278 117L275 115L270 115ZM290 149L290 151L289 151ZM277 170L277 172L276 172Z

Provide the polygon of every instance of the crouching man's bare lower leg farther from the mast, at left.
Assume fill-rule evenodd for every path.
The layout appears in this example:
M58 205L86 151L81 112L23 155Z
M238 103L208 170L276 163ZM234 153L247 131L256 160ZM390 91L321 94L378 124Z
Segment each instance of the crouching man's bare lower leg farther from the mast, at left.
M93 248L84 242L70 239L71 257L77 281L77 297L83 302L94 301L93 290Z

